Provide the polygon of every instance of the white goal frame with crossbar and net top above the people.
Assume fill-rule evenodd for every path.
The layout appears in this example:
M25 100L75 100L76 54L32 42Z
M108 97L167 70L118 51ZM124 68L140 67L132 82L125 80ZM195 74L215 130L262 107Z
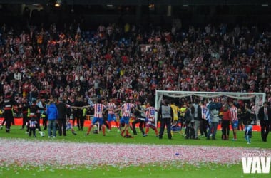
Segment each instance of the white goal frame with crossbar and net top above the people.
M155 108L158 110L163 97L168 98L185 98L189 96L198 96L200 98L219 98L227 97L238 100L250 100L255 98L255 105L262 106L265 103L266 93L238 93L238 92L204 92L204 91L170 91L156 90L155 91ZM158 113L155 115L155 125L157 126Z

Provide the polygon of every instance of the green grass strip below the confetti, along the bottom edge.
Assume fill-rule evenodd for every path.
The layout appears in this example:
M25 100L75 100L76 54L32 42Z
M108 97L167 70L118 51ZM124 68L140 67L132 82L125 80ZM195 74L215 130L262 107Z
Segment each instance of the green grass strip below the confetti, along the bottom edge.
M9 170L0 168L0 176L5 178L16 177L133 177L133 178L147 178L147 177L200 177L200 178L215 178L215 177L270 177L270 174L242 174L242 165L216 165L207 164L200 166L192 166L183 164L180 166L156 166L143 165L140 167L111 167L101 166L96 169L86 167L78 167L78 169L37 169L35 167L27 169L25 167L12 167Z

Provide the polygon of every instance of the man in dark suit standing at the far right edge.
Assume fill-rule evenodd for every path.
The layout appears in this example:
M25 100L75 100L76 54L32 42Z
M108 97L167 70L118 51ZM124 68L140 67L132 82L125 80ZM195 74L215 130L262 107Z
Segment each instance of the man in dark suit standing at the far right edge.
M262 142L267 142L271 122L271 108L268 102L263 103L263 106L259 110L258 118L260 120Z

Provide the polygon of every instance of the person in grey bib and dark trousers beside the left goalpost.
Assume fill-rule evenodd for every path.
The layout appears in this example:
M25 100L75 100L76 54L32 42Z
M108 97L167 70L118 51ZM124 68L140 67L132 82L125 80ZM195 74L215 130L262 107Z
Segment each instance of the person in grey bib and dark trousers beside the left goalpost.
M160 120L160 132L159 139L163 138L165 126L167 127L168 139L171 139L170 126L173 122L173 110L170 107L168 100L165 100L164 104L160 106L158 111L158 120Z

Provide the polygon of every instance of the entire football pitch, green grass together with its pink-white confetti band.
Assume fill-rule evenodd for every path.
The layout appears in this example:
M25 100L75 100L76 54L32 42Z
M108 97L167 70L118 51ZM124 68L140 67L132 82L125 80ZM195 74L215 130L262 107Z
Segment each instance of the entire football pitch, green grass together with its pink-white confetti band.
M247 145L244 132L237 133L237 141L186 140L180 132L173 139L155 137L150 130L147 137L140 134L123 138L113 128L106 136L85 136L84 131L66 137L29 137L19 126L11 133L0 130L1 177L270 177L243 173L242 157L271 155L270 140L262 142L260 132L253 132ZM232 132L230 132L230 137ZM258 155L257 155L258 156ZM259 155L261 156L261 155ZM254 164L252 162L252 164ZM267 165L268 166L268 165ZM260 168L259 168L260 167ZM270 167L270 164L269 164ZM253 165L252 165L253 169Z

